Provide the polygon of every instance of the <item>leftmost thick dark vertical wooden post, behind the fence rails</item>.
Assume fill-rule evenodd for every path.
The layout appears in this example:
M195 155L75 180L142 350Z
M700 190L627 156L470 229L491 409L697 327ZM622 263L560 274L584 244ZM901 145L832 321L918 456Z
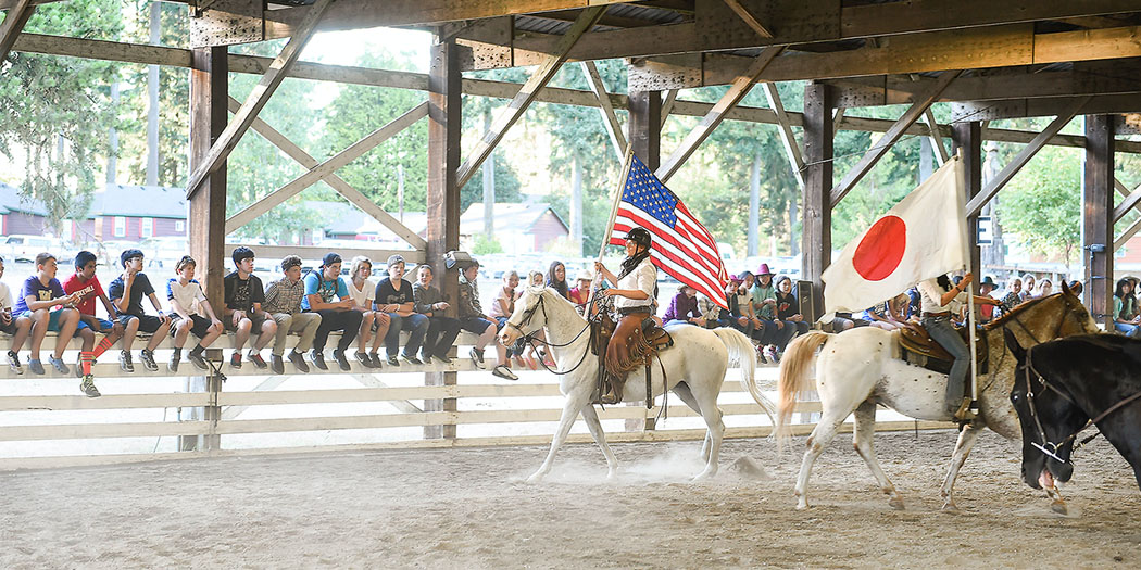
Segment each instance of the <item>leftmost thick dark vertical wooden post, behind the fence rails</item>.
M191 51L191 169L199 168L210 154L215 140L226 128L226 92L229 88L226 47L197 48ZM205 177L200 192L189 199L191 255L197 263L199 280L204 280L207 300L211 307L222 307L221 278L226 269L226 163ZM197 376L188 383L193 390L220 389L220 382L210 376ZM217 393L211 401L217 401ZM199 408L192 416L208 421L218 420L217 409ZM219 435L179 438L179 449L217 449ZM213 446L213 447L211 447Z

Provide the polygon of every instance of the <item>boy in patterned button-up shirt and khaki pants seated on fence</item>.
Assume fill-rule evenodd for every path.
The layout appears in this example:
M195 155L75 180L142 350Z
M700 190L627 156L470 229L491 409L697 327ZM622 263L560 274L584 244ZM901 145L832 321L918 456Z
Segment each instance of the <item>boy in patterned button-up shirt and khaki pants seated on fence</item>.
M266 312L277 323L277 333L274 335L273 356L269 366L275 374L285 374L285 344L290 333L301 333L293 350L289 353L289 361L302 372L309 372L309 365L305 364L305 351L313 348L313 340L317 336L321 327L321 314L304 312L301 302L305 300L305 283L301 280L301 258L289 255L282 260L282 277L269 282L266 287L266 304L262 306Z

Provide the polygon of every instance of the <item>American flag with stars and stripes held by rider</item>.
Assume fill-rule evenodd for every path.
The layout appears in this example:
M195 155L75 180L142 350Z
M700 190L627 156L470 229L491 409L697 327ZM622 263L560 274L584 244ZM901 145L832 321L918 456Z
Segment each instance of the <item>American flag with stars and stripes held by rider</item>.
M729 308L725 296L729 279L713 235L632 155L610 244L623 245L626 233L639 226L654 236L650 260L655 266L718 306Z

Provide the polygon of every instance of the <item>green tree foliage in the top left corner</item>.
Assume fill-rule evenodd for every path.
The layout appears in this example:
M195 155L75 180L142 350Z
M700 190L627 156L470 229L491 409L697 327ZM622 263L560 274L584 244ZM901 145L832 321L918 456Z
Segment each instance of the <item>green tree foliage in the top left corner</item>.
M114 38L122 28L118 0L40 6L25 32ZM105 87L114 80L106 62L8 55L0 73L0 153L26 154L25 194L42 201L48 223L84 217L96 189L97 158L106 153L113 114Z

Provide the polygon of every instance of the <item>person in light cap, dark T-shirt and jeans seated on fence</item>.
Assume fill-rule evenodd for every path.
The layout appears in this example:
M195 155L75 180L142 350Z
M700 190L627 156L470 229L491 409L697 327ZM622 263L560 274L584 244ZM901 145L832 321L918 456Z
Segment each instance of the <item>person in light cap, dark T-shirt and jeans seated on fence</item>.
M416 358L420 343L424 341L428 332L428 317L416 312L415 294L412 292L412 284L404 278L404 258L400 255L389 255L386 269L388 277L377 284L375 308L380 312L388 314L388 333L385 335L385 351L388 352L388 364L399 366L396 359L396 351L400 344L400 331L407 331L408 343L404 345L400 358L410 364L421 364Z

